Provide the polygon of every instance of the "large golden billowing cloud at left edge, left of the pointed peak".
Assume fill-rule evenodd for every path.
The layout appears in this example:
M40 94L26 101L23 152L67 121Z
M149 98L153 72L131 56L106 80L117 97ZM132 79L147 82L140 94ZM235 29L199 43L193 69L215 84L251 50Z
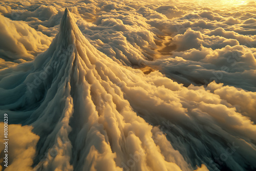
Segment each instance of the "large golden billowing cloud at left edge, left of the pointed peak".
M0 53L1 68L8 66L8 62L21 63L33 60L34 56L45 51L52 38L36 31L24 22L12 21L0 15Z

